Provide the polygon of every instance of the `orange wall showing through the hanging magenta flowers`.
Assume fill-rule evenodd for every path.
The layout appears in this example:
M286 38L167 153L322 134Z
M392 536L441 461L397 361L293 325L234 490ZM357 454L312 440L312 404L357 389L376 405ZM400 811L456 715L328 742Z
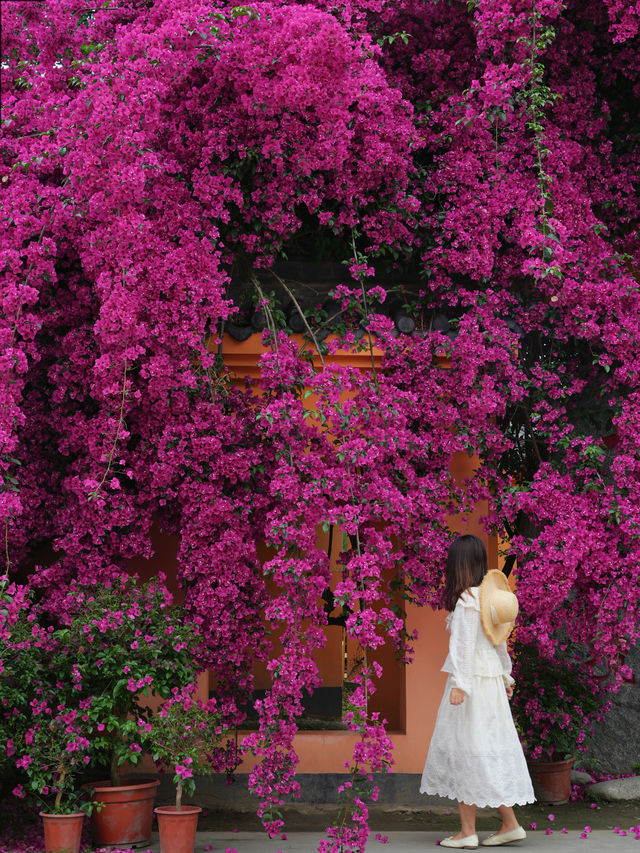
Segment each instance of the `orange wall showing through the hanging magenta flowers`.
M299 336L302 342L301 336ZM211 347L217 349L217 346ZM259 375L257 359L265 351L254 335L249 340L238 343L228 335L223 338L222 354L227 367L235 374L235 381L243 377L257 378ZM374 350L374 358L380 362L382 353ZM351 353L342 351L326 359L328 362L350 363L363 369L371 365L368 351ZM443 367L446 364L442 363ZM313 406L312 398L307 402ZM469 458L467 454L459 454L453 460L452 473L457 479L470 476L477 465L477 458ZM450 519L452 530L464 533L475 533L487 546L489 566L499 567L498 542L488 539L478 524L478 517L486 511L486 506L478 506L476 515L467 526L462 526L458 518ZM166 536L154 525L151 531L154 556L151 560L138 558L131 561L131 569L147 579L162 571L167 576L169 588L178 601L182 594L178 590L176 580L176 558L178 551L177 537ZM332 548L332 564L336 567L336 557L341 550L340 535L334 537ZM327 534L318 531L318 544L327 547ZM266 558L266 553L265 553ZM393 649L389 646L377 650L374 657L383 665L384 675L378 685L377 692L371 700L371 709L380 710L382 716L390 721L389 736L394 744L394 765L396 773L420 773L429 745L429 740L435 725L436 714L446 675L440 672L447 654L448 634L445 631L445 613L434 612L429 607L409 606L407 608L407 631L418 631L415 641L414 661L405 666L395 659ZM337 626L327 626L327 645L316 651L315 659L320 672L323 674L325 686L339 686L342 683L342 629ZM276 640L277 650L277 640ZM268 687L270 679L266 667L256 666L256 687ZM199 681L199 693L206 698L209 690L207 674L204 673ZM245 734L240 732L239 735ZM295 750L300 758L298 771L300 773L343 773L344 761L352 754L357 735L342 730L335 731L303 731L296 735ZM248 756L239 767L240 772L249 770L255 759ZM151 766L151 765L150 765Z

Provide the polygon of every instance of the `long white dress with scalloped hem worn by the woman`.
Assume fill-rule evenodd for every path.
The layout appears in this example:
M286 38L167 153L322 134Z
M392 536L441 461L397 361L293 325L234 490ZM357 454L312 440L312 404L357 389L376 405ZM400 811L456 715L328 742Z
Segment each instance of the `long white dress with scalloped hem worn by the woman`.
M421 794L439 794L479 807L533 803L527 763L511 716L505 686L513 684L506 643L492 645L480 622L478 587L458 599L447 617L449 677L420 783ZM452 687L465 692L452 705Z

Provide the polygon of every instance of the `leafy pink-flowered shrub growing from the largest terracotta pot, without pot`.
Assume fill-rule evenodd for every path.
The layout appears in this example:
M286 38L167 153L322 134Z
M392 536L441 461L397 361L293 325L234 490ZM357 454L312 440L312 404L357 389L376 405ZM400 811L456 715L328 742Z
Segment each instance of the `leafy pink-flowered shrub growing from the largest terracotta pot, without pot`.
M148 750L138 722L150 717L144 697L170 696L193 678L195 634L162 579L72 584L69 597L68 625L57 633L64 653L72 654L73 686L86 697L94 759L109 763L111 783L119 785L120 765L135 766Z

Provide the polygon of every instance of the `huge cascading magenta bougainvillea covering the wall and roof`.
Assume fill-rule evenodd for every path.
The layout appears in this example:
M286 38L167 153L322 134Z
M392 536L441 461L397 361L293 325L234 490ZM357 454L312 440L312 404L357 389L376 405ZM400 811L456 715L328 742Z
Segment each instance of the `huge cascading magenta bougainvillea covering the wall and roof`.
M331 584L318 529L346 537L330 593L366 657L350 819L326 849L363 849L362 792L391 762L367 707L373 652L389 641L410 658L398 601L438 603L452 513L486 502L487 530L508 539L523 643L609 687L627 676L638 56L632 0L3 8L6 582L28 576L56 618L71 582L151 557L154 523L179 535L225 725L268 660L241 748L259 757L271 831L318 684ZM265 297L289 253L344 263L343 334L322 359ZM238 279L268 322L261 378L243 386L219 358ZM412 286L385 298L385 280ZM411 337L389 319L398 298ZM331 360L373 342L375 369ZM479 455L466 483L449 473L459 452Z

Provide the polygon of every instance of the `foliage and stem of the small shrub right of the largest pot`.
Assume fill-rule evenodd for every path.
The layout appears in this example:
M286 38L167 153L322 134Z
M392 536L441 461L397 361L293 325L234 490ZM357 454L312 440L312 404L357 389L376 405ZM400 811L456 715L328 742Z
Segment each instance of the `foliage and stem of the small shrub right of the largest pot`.
M182 690L174 687L171 698L151 722L138 720L154 761L173 767L178 810L183 794L193 796L195 774L211 772L212 753L228 735L228 730L221 725L215 698L203 702L195 696L196 692L195 684L188 684Z

